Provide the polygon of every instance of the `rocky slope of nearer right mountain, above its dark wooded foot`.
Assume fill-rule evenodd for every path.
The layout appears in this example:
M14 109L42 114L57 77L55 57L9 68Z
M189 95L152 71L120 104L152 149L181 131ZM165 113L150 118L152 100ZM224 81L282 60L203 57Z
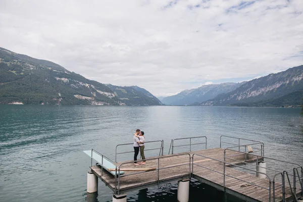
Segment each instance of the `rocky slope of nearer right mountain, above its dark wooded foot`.
M276 99L303 89L303 66L293 67L246 82L235 90L201 103L201 106L228 106Z

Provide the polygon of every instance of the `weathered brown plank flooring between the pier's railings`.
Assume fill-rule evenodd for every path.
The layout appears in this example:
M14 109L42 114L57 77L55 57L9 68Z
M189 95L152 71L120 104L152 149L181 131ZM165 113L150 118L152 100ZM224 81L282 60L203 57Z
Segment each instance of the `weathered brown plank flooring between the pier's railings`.
M199 154L203 156L207 156L209 158L223 160L223 148L214 148L214 149L206 149L206 150L199 150L199 151L192 151L190 153L184 153L183 155L176 154L176 155L165 155L159 159L159 182L158 182L158 170L137 173L132 171L125 171L125 174L120 176L120 193L124 193L127 191L131 191L134 189L141 189L148 187L150 185L156 185L158 183L166 183L170 181L175 181L179 179L193 177L198 179L204 183L210 184L218 189L224 190L223 188L223 163L211 159L207 159L200 156L194 156L194 164L207 167L209 169L213 169L215 171L211 171L206 168L201 168L199 166L193 166L190 164L189 155L192 157L193 154ZM227 150L228 155L239 154L237 151L234 150ZM189 155L188 155L189 154ZM238 156L234 156L233 159L239 161L245 161L245 154L241 154ZM258 159L258 161L262 161L263 159ZM256 157L252 155L246 156L246 162L255 162ZM240 164L240 162L227 160L227 162L232 164ZM120 162L118 165L120 166L122 163ZM174 167L172 167L174 166ZM123 164L121 168L158 168L158 159L156 160L148 160L146 161L145 165L134 166L133 163ZM115 177L107 172L106 170L102 170L100 166L92 166L90 167L91 170L97 175L102 181L104 181L112 190L115 190L116 179ZM225 172L227 175L232 177L226 176L225 178L225 186L226 191L230 194L236 195L242 199L247 201L269 201L269 190L265 189L269 187L269 180L257 177L256 174L248 174L243 171L236 170L235 168L229 167L226 165ZM190 176L192 172L192 175ZM128 175L132 174L132 175ZM247 182L243 182L241 180L235 179L233 177L237 177L241 180L245 180ZM258 187L256 185L262 186L264 188ZM282 201L282 188L280 187L281 184L276 183L275 189L276 191L276 201ZM117 186L118 186L118 178L117 178ZM300 189L297 189L299 193ZM271 188L271 195L273 201L273 191ZM290 198L290 189L286 187L286 198Z

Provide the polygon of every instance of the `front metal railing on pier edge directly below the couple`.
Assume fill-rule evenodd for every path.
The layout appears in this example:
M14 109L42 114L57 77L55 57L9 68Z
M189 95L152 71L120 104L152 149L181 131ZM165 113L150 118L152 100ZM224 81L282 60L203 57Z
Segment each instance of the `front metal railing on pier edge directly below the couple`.
M188 158L189 162L188 163L178 164L178 165L173 165L173 166L168 166L168 167L163 167L163 168L160 167L160 159L169 158L171 156L159 156L159 157L155 157L155 158L148 158L145 161L158 160L156 171L157 171L157 174L158 174L158 180L157 181L158 181L158 185L159 185L159 182L160 182L160 170L164 170L164 169L168 169L168 168L174 168L174 167L178 167L178 166L188 165L189 166L188 175L189 175L189 178L190 178L190 176L191 176L190 154L179 154L179 155L177 154L177 155L174 155L174 156L187 156L187 155L189 156L189 158ZM120 178L121 177L129 176L129 175L136 175L136 174L140 174L140 173L145 173L146 172L146 171L140 171L140 172L135 172L135 173L123 174L122 176L120 176L121 166L125 165L125 164L131 164L131 163L134 163L134 161L124 162L124 163L120 164L119 167L116 167L115 194L120 194ZM151 172L151 171L149 171L149 172ZM117 182L117 180L118 180L118 182Z

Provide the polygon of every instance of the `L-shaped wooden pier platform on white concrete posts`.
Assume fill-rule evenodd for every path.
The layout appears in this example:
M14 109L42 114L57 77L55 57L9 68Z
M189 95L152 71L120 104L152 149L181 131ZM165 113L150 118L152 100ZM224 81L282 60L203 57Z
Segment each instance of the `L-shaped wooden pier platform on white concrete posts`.
M259 174L264 175L263 178L254 172L254 174L250 174L251 172L237 169L245 163L256 163L256 168L258 168L258 162L264 161L262 156L248 153L248 151L243 153L239 150L211 148L163 155L147 158L146 164L139 166L134 166L131 161L117 162L117 168L124 170L123 175L119 175L118 170L117 177L100 165L91 166L90 169L116 194L188 178L197 179L246 201L294 201L291 190L295 190L297 197L302 194L302 181L300 181L302 176L297 178L301 177L296 183L296 189L291 188L288 183L284 183L283 195L281 181L273 183L272 178L262 173ZM127 171L126 168L129 170L136 170L136 168L150 170L147 172ZM300 170L300 172L302 171ZM281 176L283 175L281 174Z

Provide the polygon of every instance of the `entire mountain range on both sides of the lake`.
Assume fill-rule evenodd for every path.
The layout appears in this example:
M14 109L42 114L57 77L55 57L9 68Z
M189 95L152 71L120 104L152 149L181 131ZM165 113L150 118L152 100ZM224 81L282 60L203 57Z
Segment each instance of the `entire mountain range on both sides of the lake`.
M301 105L302 94L303 65L241 83L183 90L160 101L144 88L99 83L0 47L0 104L281 107Z

